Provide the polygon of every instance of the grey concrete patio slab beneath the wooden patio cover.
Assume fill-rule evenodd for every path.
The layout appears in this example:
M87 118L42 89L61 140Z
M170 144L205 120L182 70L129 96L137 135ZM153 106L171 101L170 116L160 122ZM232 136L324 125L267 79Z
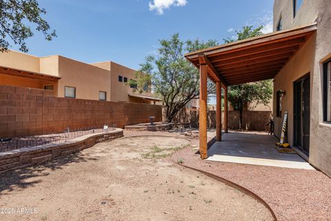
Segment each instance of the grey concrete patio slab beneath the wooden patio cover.
M314 170L299 155L279 153L277 138L263 133L224 133L208 150L208 160Z

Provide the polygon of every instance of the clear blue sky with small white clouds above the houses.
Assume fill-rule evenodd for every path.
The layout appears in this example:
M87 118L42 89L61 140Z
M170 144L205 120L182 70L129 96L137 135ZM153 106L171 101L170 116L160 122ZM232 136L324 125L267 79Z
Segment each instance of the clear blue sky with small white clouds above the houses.
M246 24L272 28L273 0L39 0L57 30L53 41L27 41L36 56L63 55L86 63L115 61L139 68L158 39L222 39ZM13 46L17 50L17 46Z

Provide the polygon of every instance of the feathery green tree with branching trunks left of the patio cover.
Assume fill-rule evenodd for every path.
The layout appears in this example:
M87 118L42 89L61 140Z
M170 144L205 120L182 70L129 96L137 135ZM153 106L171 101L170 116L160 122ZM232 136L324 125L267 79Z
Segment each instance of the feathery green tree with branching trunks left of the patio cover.
M199 97L199 70L185 59L184 53L216 46L217 41L181 41L177 33L170 39L160 40L159 44L158 55L146 57L139 72L150 76L153 92L160 95L165 104L165 120L172 122L185 104ZM138 90L146 84L144 77L140 79Z

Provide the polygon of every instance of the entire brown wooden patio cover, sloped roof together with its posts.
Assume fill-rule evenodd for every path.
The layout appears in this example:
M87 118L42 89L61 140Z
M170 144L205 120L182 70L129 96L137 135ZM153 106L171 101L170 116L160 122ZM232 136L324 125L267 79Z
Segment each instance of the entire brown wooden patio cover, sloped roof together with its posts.
M235 41L185 55L200 69L200 153L207 157L207 77L217 84L217 140L221 140L221 90L224 128L228 132L228 86L273 79L316 32L317 24Z

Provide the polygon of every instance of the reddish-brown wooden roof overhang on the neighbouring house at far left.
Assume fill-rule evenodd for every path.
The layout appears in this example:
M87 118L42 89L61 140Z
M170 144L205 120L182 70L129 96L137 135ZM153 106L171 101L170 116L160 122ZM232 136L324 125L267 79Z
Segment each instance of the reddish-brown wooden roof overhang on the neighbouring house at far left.
M0 74L5 75L14 75L18 77L28 77L32 79L40 79L44 81L58 81L61 79L61 77L52 76L52 75L46 75L43 73L35 73L32 71L26 71L26 70L19 70L14 68L8 68L8 67L0 67Z

